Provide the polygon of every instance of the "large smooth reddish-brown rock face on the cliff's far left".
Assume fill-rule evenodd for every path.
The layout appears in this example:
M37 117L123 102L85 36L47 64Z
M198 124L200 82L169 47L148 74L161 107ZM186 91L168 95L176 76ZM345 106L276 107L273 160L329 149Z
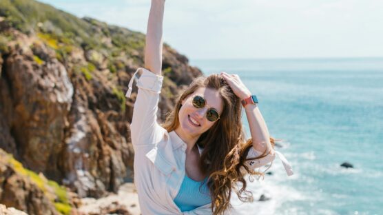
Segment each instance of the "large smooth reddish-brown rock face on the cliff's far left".
M38 65L29 54L12 52L6 59L9 105L14 108L11 134L26 167L45 172L50 178L61 175L57 166L62 151L73 85L58 61Z

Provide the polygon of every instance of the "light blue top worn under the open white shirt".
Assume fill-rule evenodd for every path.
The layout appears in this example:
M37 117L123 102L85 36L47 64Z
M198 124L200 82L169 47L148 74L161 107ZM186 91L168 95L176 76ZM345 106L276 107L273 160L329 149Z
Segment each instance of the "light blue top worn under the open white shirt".
M204 184L200 187L202 183ZM176 198L174 198L174 203L180 208L181 212L187 212L211 203L207 177L204 181L194 181L185 174L180 190Z

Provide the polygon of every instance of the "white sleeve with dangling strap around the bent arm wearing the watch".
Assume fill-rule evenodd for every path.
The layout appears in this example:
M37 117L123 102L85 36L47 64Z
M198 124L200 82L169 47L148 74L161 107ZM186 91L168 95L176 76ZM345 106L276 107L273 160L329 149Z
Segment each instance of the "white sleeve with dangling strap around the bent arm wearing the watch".
M274 161L276 156L278 156L280 158L280 160L282 161L282 164L284 166L284 170L286 171L287 175L288 176L293 175L293 168L291 167L289 161L287 161L287 159L283 156L282 153L278 152L277 150L274 150L274 152L275 152L274 154L267 154L267 156L265 156L263 158L251 159L249 161L246 161L245 165L247 165L247 167L249 167L251 169L259 168L259 167L262 167L264 165L267 165L268 163L271 163L272 161ZM258 150L254 149L254 147L251 147L249 150L249 153L247 154L247 158L258 157L261 154L262 154L262 152L259 152ZM269 168L267 168L263 172L265 173L268 169Z

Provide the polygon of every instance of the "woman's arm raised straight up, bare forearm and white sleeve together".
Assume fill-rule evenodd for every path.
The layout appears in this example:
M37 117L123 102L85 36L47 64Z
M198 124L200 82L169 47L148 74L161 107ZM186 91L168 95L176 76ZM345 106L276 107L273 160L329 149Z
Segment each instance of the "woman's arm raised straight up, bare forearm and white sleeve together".
M132 124L130 125L132 143L137 145L154 145L163 138L164 129L157 123L158 101L163 83L161 76L163 47L163 12L165 0L152 0L147 23L145 45L145 68L138 79L138 94L134 103ZM129 83L126 96L132 92L135 74Z

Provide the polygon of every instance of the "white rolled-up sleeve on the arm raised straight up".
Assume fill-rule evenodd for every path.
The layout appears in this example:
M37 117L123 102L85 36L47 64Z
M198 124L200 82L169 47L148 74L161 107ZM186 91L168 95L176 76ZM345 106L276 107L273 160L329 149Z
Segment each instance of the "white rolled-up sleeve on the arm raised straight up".
M158 100L163 83L163 76L138 68L132 76L127 97L132 92L135 74L142 70L137 82L138 94L134 103L132 123L130 125L133 145L150 145L163 139L164 129L157 123Z

